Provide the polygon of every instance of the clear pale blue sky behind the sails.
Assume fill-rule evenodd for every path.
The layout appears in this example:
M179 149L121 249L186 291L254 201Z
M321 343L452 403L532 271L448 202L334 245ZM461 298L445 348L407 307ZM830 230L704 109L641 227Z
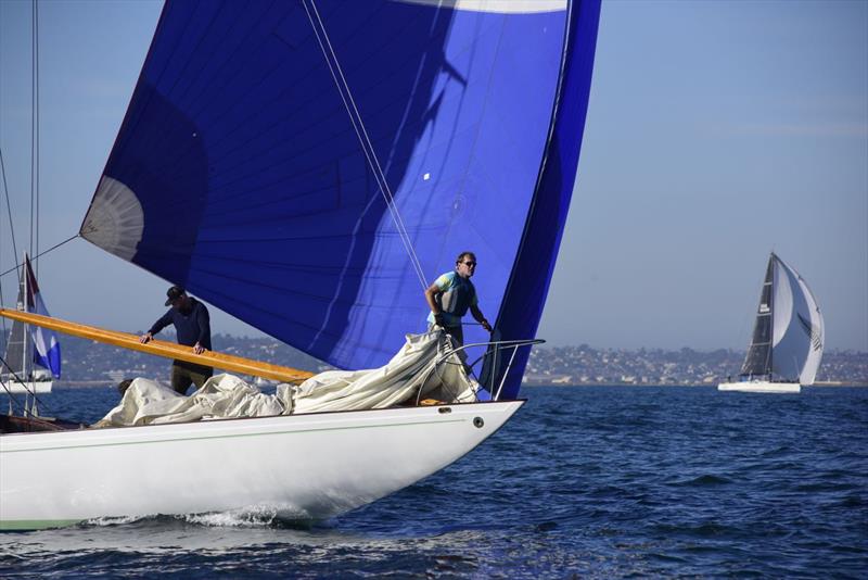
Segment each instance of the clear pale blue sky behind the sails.
M41 249L78 230L161 7L40 3ZM29 35L29 2L1 1L0 147L18 244ZM9 229L3 209L3 270ZM827 348L868 351L868 2L604 2L539 337L744 349L771 250L817 295ZM39 277L59 317L132 331L163 310L165 282L81 240L44 257ZM7 305L13 283L2 280ZM215 331L255 333L214 320Z

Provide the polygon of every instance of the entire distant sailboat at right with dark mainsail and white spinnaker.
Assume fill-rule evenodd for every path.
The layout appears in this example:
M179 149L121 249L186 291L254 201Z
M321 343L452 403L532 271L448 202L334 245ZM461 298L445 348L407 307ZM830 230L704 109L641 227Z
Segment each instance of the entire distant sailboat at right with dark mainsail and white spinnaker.
M722 382L717 390L800 392L817 377L825 332L817 300L804 278L773 252L739 380Z

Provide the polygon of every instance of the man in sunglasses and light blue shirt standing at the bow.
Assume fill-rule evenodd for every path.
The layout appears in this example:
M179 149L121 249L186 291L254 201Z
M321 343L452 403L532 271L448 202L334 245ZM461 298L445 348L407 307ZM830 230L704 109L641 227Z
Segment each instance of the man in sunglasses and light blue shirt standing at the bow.
M470 281L475 272L476 255L473 252L461 252L455 262L455 272L447 272L425 290L425 301L431 308L427 316L429 330L434 325L442 327L455 339L457 346L464 343L461 317L467 314L468 308L485 330L492 331L492 325L480 311L476 288Z

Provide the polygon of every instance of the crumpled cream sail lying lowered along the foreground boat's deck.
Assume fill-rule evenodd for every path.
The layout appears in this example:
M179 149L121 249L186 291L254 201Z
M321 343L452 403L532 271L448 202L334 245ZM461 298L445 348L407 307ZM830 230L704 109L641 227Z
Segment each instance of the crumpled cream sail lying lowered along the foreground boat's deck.
M474 402L478 384L467 375L458 354L443 360L451 349L451 340L441 330L407 335L404 348L381 368L328 370L298 387L280 384L276 394L265 394L228 374L212 377L190 396L157 381L137 378L120 403L93 427L363 411L414 403L417 396Z

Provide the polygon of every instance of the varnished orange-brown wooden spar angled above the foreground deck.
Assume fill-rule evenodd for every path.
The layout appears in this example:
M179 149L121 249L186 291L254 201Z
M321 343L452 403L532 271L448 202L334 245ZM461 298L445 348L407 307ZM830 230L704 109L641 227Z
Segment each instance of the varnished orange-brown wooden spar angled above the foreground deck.
M288 366L261 363L259 361L253 361L251 358L233 356L231 354L222 354L214 351L205 351L202 354L195 354L192 346L184 346L183 344L176 344L175 342L166 342L164 340L151 340L151 342L148 344L142 344L139 342L139 337L136 335L117 332L115 330L105 330L103 328L97 328L95 326L69 323L66 320L61 320L60 318L52 318L51 316L42 316L41 314L0 308L0 316L4 316L13 320L21 320L22 323L29 325L50 328L51 330L56 330L58 332L63 332L65 335L72 335L74 337L95 340L97 342L104 342L105 344L122 346L132 351L146 352L157 356L177 358L188 363L213 366L216 368L222 368L224 370L231 370L233 373L241 373L243 375L253 375L254 377L263 377L282 382L301 382L314 376L312 373L308 373L307 370L298 370L297 368L291 368Z

